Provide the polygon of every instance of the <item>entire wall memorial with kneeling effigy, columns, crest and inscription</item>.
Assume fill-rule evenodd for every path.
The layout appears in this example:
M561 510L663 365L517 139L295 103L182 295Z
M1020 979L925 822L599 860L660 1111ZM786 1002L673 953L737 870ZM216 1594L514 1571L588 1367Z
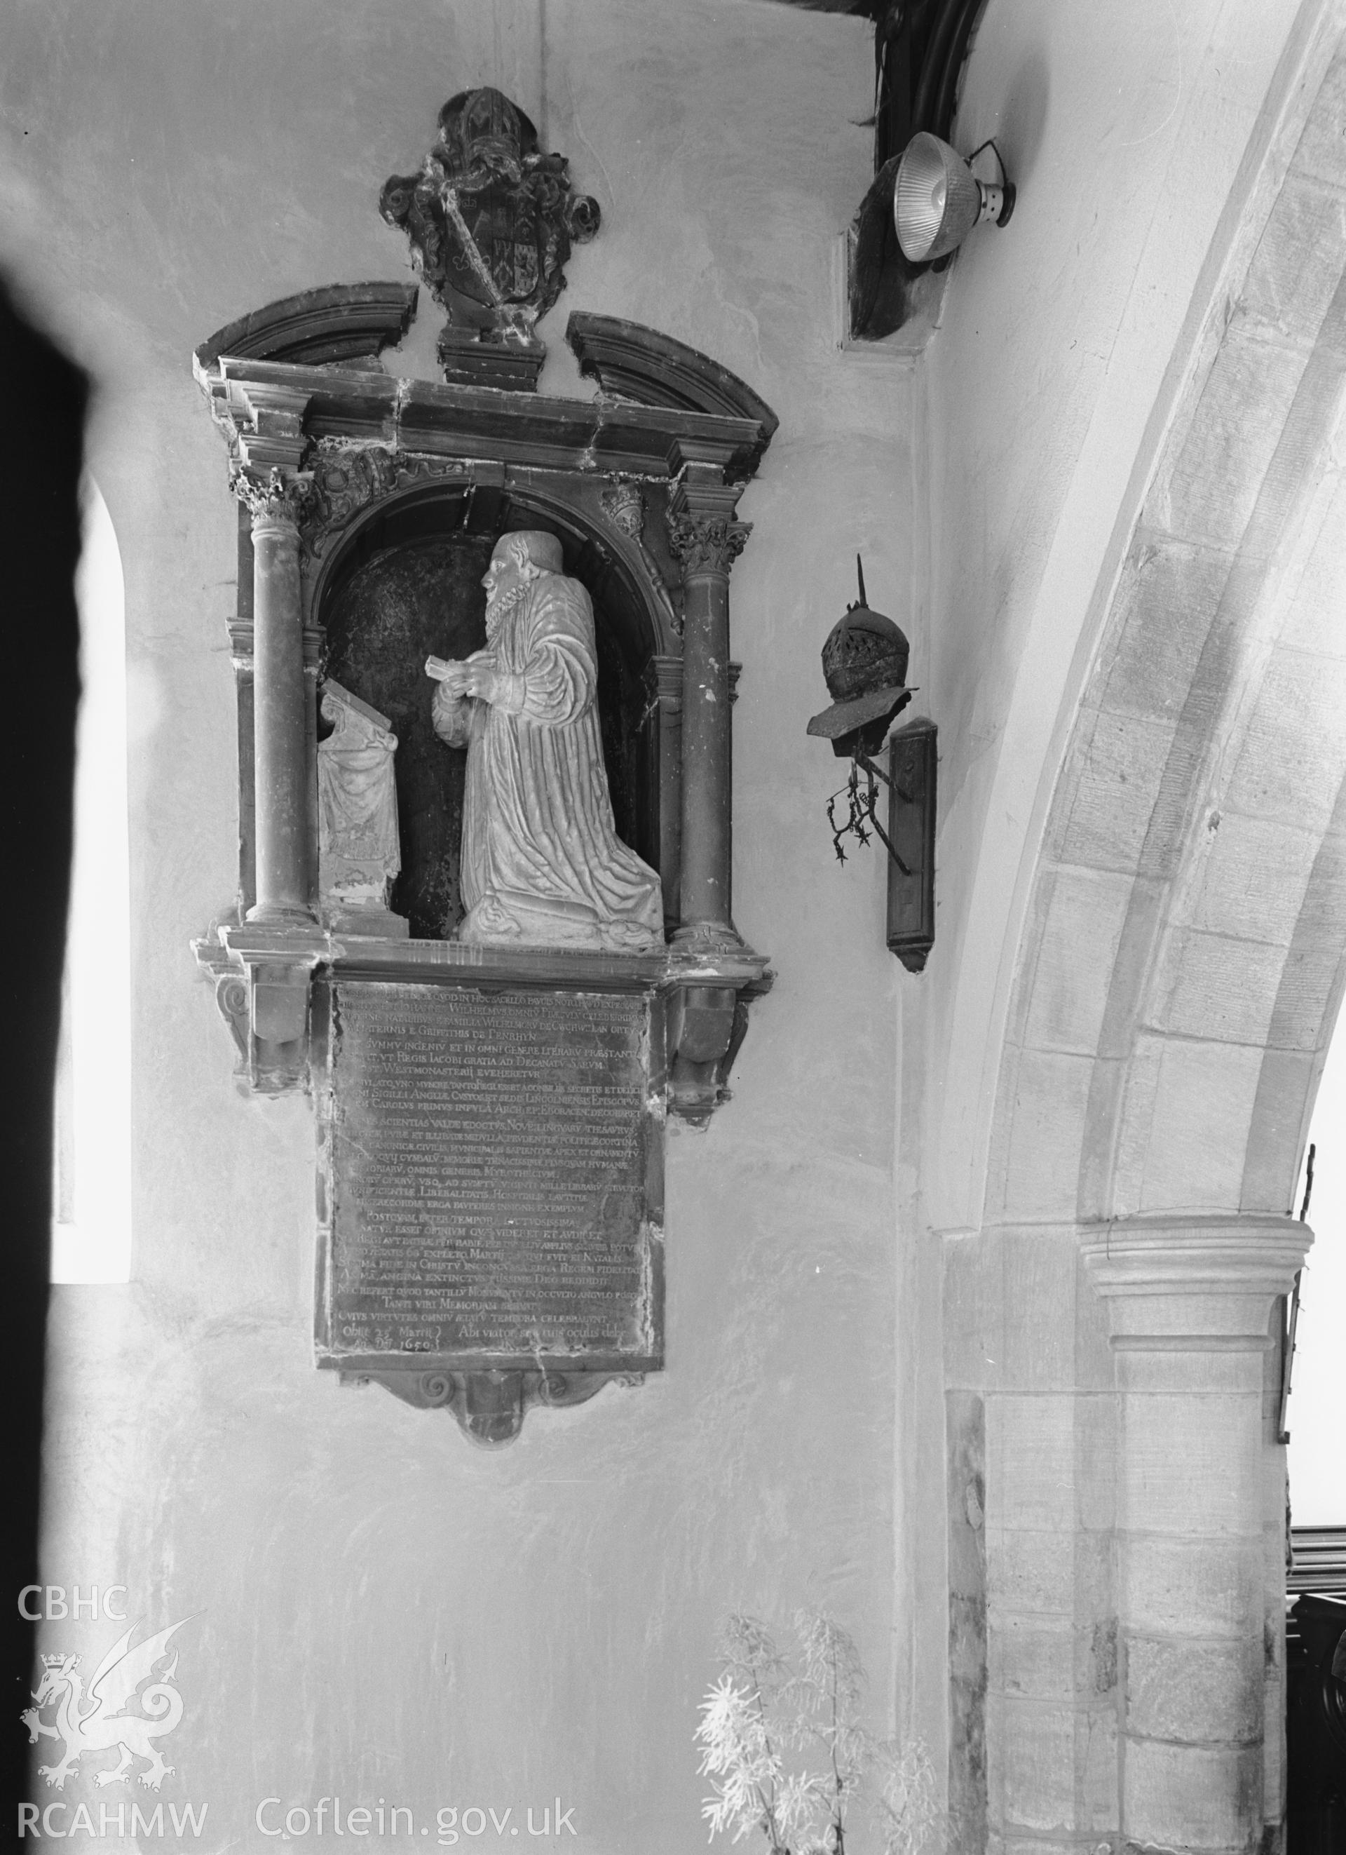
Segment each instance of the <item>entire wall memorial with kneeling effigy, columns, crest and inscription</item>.
M769 985L732 922L729 575L777 419L595 313L599 395L536 391L599 215L501 93L382 211L443 382L380 365L410 284L197 349L241 508L239 892L195 946L243 1085L315 1102L317 1365L504 1443L662 1369L666 1117L727 1100Z

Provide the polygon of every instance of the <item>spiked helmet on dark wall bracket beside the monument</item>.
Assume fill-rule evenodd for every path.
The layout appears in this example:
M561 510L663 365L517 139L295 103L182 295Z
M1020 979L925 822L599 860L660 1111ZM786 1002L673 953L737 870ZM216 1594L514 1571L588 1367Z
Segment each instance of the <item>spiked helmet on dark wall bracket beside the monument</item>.
M933 139L933 137L931 137ZM934 946L934 722L920 718L888 742L888 772L873 755L912 699L907 686L910 646L899 625L871 612L864 595L864 568L855 556L860 597L847 605L823 644L823 679L832 697L808 722L808 733L831 740L838 759L851 761L844 787L827 801L832 848L845 863L845 837L888 851L888 948L908 972L925 966ZM879 824L879 783L888 787L888 827ZM838 818L838 801L845 816Z

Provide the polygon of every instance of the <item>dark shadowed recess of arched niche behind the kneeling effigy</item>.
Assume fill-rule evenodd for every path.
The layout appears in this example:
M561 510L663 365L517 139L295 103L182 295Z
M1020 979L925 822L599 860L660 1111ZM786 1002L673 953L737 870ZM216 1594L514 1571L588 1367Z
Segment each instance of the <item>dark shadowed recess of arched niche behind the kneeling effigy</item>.
M458 848L465 751L430 722L426 657L467 657L486 644L482 575L499 536L545 529L562 544L565 573L593 601L599 718L617 835L677 894L662 829L677 811L664 790L656 659L669 657L666 612L612 544L569 503L467 480L395 490L341 534L311 577L319 683L334 677L386 714L399 738L397 800L402 870L393 911L413 939L449 939L462 920ZM324 723L317 722L317 736ZM671 913L671 909L669 909Z

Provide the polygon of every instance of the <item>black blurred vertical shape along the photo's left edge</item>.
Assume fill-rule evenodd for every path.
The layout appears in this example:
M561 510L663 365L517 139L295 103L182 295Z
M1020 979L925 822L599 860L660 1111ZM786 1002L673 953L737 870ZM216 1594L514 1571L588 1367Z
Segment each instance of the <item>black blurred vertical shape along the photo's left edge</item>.
M6 445L0 521L6 571L9 790L6 850L22 872L4 950L11 1076L6 1107L6 1473L4 1694L15 1712L32 1688L33 1625L15 1597L37 1580L37 1495L43 1354L52 1217L52 1089L70 881L74 716L80 696L80 467L89 384L15 306L0 278L0 356L9 416L22 443ZM4 1734L4 1807L28 1796L30 1747ZM13 1820L13 1818L11 1818Z

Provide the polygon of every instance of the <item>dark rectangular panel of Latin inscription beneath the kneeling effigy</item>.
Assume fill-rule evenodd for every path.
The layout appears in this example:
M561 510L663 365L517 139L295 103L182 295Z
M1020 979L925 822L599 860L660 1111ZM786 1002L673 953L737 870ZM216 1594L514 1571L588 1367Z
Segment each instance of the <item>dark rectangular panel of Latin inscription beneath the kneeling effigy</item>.
M658 1005L334 981L319 1356L660 1363Z

